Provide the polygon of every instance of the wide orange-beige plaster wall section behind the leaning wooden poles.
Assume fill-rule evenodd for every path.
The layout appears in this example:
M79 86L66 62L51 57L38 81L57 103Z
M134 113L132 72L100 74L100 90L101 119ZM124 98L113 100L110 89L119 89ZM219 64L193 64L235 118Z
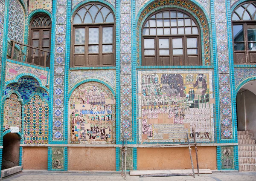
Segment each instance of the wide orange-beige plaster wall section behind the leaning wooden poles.
M195 149L192 158L196 169ZM198 147L200 169L217 169L216 147ZM191 169L189 149L184 148L137 148L138 170Z

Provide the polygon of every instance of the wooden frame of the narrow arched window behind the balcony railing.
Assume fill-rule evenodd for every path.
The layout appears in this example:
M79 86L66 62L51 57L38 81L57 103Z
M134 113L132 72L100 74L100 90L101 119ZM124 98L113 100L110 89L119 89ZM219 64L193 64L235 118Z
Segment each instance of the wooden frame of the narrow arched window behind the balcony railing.
M48 17L48 19L50 20L50 26L32 26L33 20L36 17L39 17L39 16ZM47 31L47 30L49 30L49 38L43 38L43 32ZM38 40L39 49L49 48L48 51L50 52L51 51L51 34L52 34L51 30L52 30L52 20L48 15L46 15L46 14L37 14L37 15L35 15L29 23L29 45L33 46L33 40ZM39 37L38 38L33 37L33 32L36 32L36 31L39 31ZM48 39L49 40L49 46L43 46L43 39ZM38 50L38 55L39 55L39 57L35 57L35 60L36 60L36 58L39 58L38 63L35 63L35 64L37 64L39 66L44 66L44 55L42 55L42 52L39 51L39 50ZM30 57L32 57L32 49L31 48L29 48L28 61L31 61ZM48 59L49 59L49 57L48 57ZM31 62L29 62L29 63L31 63ZM49 67L49 64L50 64L50 62L47 61L46 66Z

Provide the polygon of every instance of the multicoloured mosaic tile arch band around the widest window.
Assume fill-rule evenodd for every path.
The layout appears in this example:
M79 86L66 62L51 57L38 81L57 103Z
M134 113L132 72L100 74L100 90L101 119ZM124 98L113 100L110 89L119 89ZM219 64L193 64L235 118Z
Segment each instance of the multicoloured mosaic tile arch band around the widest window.
M146 3L147 4L147 3ZM211 49L210 49L210 30L208 23L208 15L195 3L189 0L156 0L149 3L144 9L141 9L137 15L137 46L141 49L141 29L145 19L153 12L160 9L174 7L177 9L183 9L188 11L195 17L198 23L201 25L201 38L202 38L202 59L205 65L211 65ZM138 23L140 22L140 23ZM141 50L137 51L137 65L140 65Z

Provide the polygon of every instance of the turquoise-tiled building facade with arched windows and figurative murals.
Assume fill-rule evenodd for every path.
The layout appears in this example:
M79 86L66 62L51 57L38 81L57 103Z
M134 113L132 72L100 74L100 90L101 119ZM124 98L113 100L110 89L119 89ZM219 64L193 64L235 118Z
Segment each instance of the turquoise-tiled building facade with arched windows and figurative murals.
M23 169L119 171L127 138L129 170L185 169L190 160L179 160L189 153L178 145L187 143L189 133L201 143L200 168L239 170L236 95L256 80L256 61L234 63L231 19L247 1L0 0L0 144L16 127ZM90 8L102 13L102 25ZM79 12L84 17L79 15L77 25ZM40 37L31 22L41 14L51 21L50 37L42 35L50 46L34 44ZM99 35L106 27L113 27L110 39ZM160 41L166 37L164 46ZM28 63L26 55L34 59L38 52L18 43L49 51L48 66ZM171 63L165 64L161 50ZM186 53L174 56L179 50ZM95 58L97 51L103 53ZM191 63L196 56L198 63ZM151 60L157 63L147 63ZM37 154L42 156L35 161Z

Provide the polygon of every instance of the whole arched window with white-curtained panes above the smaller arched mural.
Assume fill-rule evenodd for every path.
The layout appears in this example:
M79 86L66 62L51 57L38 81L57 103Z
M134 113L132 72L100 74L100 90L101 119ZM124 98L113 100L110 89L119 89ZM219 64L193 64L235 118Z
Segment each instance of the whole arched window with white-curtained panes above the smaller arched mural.
M115 65L115 18L100 3L81 6L73 15L71 66Z

